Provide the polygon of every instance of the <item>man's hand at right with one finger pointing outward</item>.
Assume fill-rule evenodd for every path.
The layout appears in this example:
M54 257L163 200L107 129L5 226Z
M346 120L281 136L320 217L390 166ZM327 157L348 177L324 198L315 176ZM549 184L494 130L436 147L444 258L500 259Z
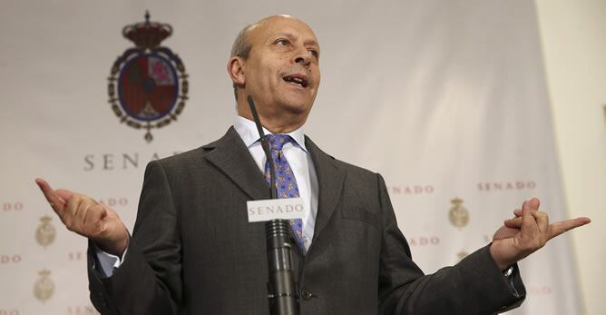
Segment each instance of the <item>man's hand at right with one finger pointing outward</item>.
M552 238L591 222L583 217L550 224L547 213L539 211L539 204L536 198L523 202L522 209L513 212L515 218L505 220L494 233L490 253L502 271L539 250Z

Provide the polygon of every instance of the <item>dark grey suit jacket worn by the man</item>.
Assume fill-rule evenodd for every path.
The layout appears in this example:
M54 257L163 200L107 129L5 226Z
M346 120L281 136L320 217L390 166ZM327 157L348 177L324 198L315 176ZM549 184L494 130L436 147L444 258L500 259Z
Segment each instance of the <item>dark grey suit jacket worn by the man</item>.
M340 162L306 138L318 173L312 244L295 258L301 314L490 314L519 305L488 248L424 275L380 175ZM268 314L264 223L246 202L269 185L230 128L219 141L150 162L122 266L103 279L89 246L93 305L103 314Z

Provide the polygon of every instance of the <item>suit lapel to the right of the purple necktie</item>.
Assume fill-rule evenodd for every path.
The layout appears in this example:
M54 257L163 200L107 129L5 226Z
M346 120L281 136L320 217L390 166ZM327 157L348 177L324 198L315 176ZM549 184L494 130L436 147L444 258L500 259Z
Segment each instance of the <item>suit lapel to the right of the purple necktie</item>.
M345 173L337 168L332 156L322 152L316 143L313 143L307 136L305 137L305 145L311 154L318 175L318 214L314 228L315 240L326 227L341 199Z

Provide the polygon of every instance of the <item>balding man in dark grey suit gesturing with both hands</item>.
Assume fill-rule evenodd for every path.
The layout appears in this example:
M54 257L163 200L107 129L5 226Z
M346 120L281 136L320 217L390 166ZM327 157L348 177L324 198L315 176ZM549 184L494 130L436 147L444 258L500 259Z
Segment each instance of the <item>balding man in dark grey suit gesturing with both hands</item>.
M516 261L589 222L549 223L523 202L493 242L432 275L411 260L380 175L322 152L301 131L318 92L319 45L302 21L270 16L245 28L228 63L238 117L218 141L145 171L132 237L107 206L36 180L66 227L87 237L91 300L103 314L266 314L262 222L246 202L269 199L246 101L266 133L286 134L308 211L296 252L301 314L489 314L525 296ZM283 154L283 155L282 155Z

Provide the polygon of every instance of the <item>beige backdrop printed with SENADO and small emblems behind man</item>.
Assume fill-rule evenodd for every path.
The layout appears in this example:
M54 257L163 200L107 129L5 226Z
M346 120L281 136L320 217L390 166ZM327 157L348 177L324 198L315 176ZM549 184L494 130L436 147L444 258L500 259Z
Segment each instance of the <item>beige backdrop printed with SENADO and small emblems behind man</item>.
M190 75L183 113L152 143L107 102L111 65L132 47L122 27L146 9L172 25L164 44ZM533 3L13 1L1 12L1 315L93 313L85 241L54 217L34 177L93 195L132 227L145 163L208 143L233 121L230 44L265 15L297 15L316 30L323 78L306 131L384 174L424 271L487 244L531 196L552 219L566 216ZM581 311L567 238L521 268L529 296L512 313Z

